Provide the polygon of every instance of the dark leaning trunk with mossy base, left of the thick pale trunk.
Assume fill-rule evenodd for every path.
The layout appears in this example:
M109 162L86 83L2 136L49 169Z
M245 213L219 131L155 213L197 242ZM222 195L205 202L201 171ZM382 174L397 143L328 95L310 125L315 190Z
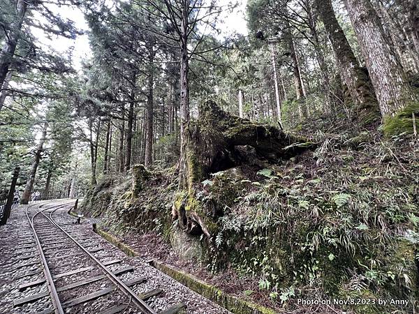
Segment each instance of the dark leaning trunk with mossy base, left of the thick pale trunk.
M355 54L342 31L331 0L315 0L316 8L328 33L337 59L340 75L348 87L351 100L355 105L358 119L367 124L378 119L376 94L365 70L360 68Z

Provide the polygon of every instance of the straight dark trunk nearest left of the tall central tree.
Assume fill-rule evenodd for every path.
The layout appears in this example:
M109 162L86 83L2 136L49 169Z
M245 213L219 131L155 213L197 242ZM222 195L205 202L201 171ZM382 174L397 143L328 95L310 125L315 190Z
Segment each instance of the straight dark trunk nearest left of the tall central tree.
M147 133L145 137L145 160L144 165L145 167L150 167L153 163L153 137L154 137L154 73L153 73L153 61L154 61L154 54L153 48L150 48L149 51L149 63L150 63L150 70L149 70L149 77L148 77L148 91L149 94L147 96L147 118L146 128ZM164 117L163 117L164 119Z

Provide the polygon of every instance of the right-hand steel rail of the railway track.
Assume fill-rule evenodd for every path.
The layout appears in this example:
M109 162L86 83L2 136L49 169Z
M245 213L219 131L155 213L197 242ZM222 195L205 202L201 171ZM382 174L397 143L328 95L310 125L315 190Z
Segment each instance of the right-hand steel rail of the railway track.
M57 209L54 209L54 211L57 211ZM66 236L68 238L70 238L75 244L77 244L82 251L84 251L84 253L86 253L92 260L94 260L94 262L96 262L96 264L98 264L98 266L103 270L103 272L105 273L105 275L110 279L110 281L112 281L112 283L114 283L119 290L121 290L127 297L130 297L131 300L133 301L133 303L138 306L138 308L140 308L140 310L142 311L142 313L145 314L157 314L147 303L145 303L145 301L143 301L140 297L138 297L137 294L135 294L133 292L133 290L131 290L121 279L119 279L117 276L115 276L115 274L112 274L112 272L105 267L105 265L98 260L93 254L91 254L89 251L87 251L86 248L84 248L84 246L82 246L76 239L74 239L71 234L69 234L68 232L66 232L66 230L64 230L53 218L52 218L52 214L54 213L54 211L50 212L50 217L47 217L44 213L42 213L47 219L50 220L50 222L55 225L56 227L59 227L59 229L64 232L64 234L66 234Z

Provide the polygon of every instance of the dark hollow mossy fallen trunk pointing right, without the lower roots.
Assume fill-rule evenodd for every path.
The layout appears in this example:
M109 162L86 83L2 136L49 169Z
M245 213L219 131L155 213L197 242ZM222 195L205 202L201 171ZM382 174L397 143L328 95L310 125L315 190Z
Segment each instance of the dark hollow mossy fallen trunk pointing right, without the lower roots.
M211 173L235 167L244 160L251 162L253 157L246 156L251 152L257 158L277 163L315 146L274 126L233 116L211 100L199 110L199 119L189 122L186 129L189 187Z

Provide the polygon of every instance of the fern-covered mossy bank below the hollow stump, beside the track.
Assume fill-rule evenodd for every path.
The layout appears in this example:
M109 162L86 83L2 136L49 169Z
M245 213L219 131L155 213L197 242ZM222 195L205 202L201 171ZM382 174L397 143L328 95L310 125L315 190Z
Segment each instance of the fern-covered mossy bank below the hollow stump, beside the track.
M319 119L314 134L302 125L318 149L265 169L240 165L184 192L174 169L154 171L138 197L124 197L131 187L115 184L96 188L86 204L110 193L107 206L96 208L114 232L154 232L170 242L172 205L184 202L209 230L189 235L204 253L200 274L275 311L411 313L419 282L418 139L331 125ZM348 298L409 304L301 303Z

